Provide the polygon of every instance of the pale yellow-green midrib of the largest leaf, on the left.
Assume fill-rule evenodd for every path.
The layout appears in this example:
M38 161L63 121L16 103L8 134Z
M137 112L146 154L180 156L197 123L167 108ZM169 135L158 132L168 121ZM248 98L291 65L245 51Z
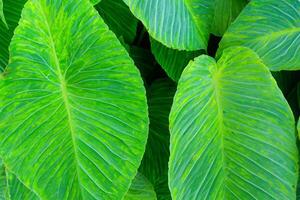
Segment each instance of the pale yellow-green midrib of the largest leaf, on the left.
M51 48L51 51L52 51L51 53L54 56L54 62L55 62L55 65L56 65L56 69L58 71L57 75L58 75L58 78L59 78L61 94L62 94L62 97L63 97L63 102L64 102L64 105L65 105L65 109L67 111L68 125L70 127L74 157L75 157L76 162L78 163L78 153L77 153L77 150L75 148L76 147L75 130L74 130L74 126L73 126L71 108L70 108L70 105L69 105L70 103L69 103L69 99L68 99L68 95L67 95L68 91L67 91L67 86L66 86L66 80L65 80L65 77L63 76L63 73L60 69L60 62L59 62L59 59L58 59L58 56L57 56L57 53L56 53L56 48L55 48L53 35L51 33L50 25L49 25L48 20L46 18L45 11L43 9L43 6L41 5L41 1L38 1L38 2L39 2L40 10L42 11L42 14L43 14L43 17L44 17L44 21L45 21L45 24L46 24L46 27L47 27L49 37L50 37L50 43L51 43L50 48ZM78 172L79 172L79 169L78 169L78 165L76 164L76 176L77 176L77 181L79 183L79 188L80 188L81 194L82 194L82 188L81 188L80 178L79 178L79 173Z

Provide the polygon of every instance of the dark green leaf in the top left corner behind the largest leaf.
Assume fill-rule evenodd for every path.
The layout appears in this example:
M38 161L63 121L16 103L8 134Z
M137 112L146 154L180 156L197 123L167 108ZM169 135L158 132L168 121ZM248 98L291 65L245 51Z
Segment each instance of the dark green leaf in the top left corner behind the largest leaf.
M2 1L1 1L2 2ZM4 0L3 13L6 17L6 24L0 22L0 72L8 63L8 46L21 17L21 11L26 0ZM0 11L1 11L0 6ZM1 14L0 14L1 15ZM1 17L0 17L1 18Z

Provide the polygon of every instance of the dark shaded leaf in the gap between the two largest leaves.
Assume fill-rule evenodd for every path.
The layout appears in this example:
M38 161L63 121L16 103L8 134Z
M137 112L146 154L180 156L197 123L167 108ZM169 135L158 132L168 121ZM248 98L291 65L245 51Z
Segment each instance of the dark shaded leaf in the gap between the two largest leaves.
M148 89L149 137L140 171L154 185L158 199L171 199L168 189L169 113L176 91L170 79L159 79Z

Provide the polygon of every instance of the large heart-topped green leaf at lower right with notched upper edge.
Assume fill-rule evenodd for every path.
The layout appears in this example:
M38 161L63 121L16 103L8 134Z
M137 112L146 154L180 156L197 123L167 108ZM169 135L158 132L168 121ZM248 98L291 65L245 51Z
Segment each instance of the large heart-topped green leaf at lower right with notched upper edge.
M248 48L200 56L170 114L173 199L295 199L297 147L288 103Z

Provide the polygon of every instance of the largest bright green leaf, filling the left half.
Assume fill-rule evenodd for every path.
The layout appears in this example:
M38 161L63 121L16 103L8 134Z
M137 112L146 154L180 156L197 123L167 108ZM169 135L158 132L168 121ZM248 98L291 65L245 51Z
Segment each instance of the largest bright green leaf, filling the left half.
M0 82L4 162L42 199L121 199L148 132L133 61L88 0L29 0L19 24Z

